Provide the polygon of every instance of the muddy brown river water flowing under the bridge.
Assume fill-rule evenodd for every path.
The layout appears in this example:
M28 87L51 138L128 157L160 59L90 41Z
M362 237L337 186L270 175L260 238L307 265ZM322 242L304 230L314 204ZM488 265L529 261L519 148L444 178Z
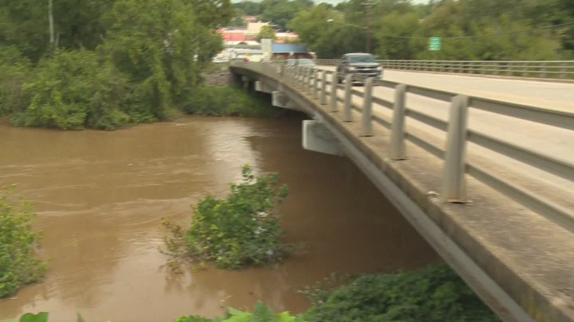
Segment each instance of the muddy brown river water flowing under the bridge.
M301 120L184 117L114 132L0 123L0 186L17 183L17 194L33 203L51 259L43 282L0 300L0 316L170 321L252 308L257 300L301 312L309 304L295 290L331 272L438 261L350 160L302 150ZM160 218L189 222L190 205L226 193L245 163L280 172L289 184L285 240L305 251L276 268L179 275L163 268Z

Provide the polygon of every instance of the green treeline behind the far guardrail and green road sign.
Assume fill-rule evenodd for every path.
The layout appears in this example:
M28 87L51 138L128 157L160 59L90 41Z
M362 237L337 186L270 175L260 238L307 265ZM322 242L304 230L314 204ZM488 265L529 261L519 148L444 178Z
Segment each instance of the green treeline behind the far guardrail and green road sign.
M266 8L296 9L295 3L234 6L275 22ZM306 7L286 26L320 58L364 52L369 33L370 52L380 59L561 60L574 56L574 24L563 25L568 22L574 22L572 0L348 0ZM428 50L428 37L441 37L441 49Z

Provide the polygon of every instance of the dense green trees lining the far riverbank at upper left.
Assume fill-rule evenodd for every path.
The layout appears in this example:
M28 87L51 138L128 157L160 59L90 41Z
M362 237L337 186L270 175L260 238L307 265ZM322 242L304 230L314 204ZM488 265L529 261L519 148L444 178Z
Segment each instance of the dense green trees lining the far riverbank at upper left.
M230 0L0 0L0 116L61 129L171 119L206 91L232 15Z

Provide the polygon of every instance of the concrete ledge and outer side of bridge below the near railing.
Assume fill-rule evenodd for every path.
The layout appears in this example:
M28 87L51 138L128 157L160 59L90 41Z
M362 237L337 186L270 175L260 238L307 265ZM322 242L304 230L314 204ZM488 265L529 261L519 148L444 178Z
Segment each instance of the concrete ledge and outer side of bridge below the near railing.
M247 68L233 66L232 72L257 80L259 88L274 93L276 105L303 111L322 124L338 149L503 320L572 321L574 280L553 270L568 263L560 258L572 256L567 253L574 242L570 231L471 176L472 202L441 202L435 192L441 186L439 158L408 143L409 159L391 160L388 129L377 125L373 136L360 137L359 112L352 112L355 121L344 122L341 112L329 112L293 85ZM557 241L570 246L556 248Z

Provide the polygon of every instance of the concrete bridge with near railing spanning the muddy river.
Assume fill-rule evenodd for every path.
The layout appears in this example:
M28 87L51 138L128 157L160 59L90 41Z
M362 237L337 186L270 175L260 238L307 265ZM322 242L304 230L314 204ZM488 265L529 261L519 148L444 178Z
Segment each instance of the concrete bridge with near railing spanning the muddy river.
M406 72L352 87L329 68L231 70L307 113L304 148L351 158L503 320L574 321L574 84L509 95L492 78L448 87Z

